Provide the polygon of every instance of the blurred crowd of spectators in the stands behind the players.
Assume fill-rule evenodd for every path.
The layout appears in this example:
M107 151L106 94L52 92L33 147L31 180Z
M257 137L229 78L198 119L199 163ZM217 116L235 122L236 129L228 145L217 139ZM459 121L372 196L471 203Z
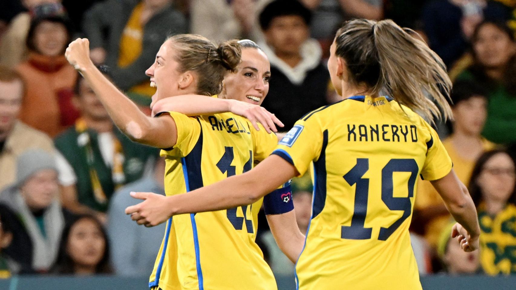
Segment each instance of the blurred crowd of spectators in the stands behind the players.
M516 273L515 0L2 0L0 2L0 278L14 274L150 273L164 225L139 227L129 193L164 194L158 150L110 121L64 52L77 37L91 59L150 113L144 71L167 36L251 39L271 64L263 106L289 129L338 100L326 59L352 18L393 19L418 33L454 82L453 121L435 125L478 211L481 248L450 240L453 220L420 180L412 246L423 275ZM431 96L428 96L431 98ZM293 182L301 231L312 184ZM257 242L273 271L292 274L260 216Z

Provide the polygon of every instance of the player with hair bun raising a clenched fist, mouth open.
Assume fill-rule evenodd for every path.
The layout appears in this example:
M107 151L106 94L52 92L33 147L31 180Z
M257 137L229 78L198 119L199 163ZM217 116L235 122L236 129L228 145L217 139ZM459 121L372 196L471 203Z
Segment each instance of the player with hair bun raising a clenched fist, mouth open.
M78 39L67 49L67 58L91 84L115 124L137 142L166 148L162 156L167 165L167 195L184 193L246 172L253 162L265 159L277 144L276 135L266 133L263 127L260 131L251 129L250 122L231 113L190 118L169 112L147 117L95 69L88 53L88 41ZM200 36L171 37L159 49L155 63L146 72L157 88L153 104L168 96L216 95L221 91L225 72L233 71L239 62L240 47L234 41L217 47ZM232 100L226 103L237 107L236 111L252 111L249 116L275 130L271 125L275 118L259 106ZM204 289L205 286L210 289L276 289L272 272L254 242L255 217L261 203L262 200L258 200L229 210L169 219L149 286L163 290ZM283 203L281 199L277 204L272 203L274 213L292 209L275 207ZM281 224L271 228L285 241L298 245L290 246L293 250L287 254L295 260L302 248L303 235L297 228L293 211L281 216ZM286 223L285 219L289 221Z

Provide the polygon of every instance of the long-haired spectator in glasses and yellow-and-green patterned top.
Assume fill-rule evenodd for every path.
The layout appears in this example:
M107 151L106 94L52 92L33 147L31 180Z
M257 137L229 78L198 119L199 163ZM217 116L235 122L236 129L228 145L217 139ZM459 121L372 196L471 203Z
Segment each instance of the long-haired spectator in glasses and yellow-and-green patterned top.
M504 150L479 158L469 184L480 223L480 264L488 275L514 274L516 248L516 170Z

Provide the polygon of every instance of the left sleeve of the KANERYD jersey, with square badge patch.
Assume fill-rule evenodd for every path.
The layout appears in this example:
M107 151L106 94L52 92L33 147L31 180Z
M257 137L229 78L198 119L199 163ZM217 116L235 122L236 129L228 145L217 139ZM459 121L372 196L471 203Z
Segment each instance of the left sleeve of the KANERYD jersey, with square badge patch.
M272 154L278 155L296 167L303 176L312 161L319 158L323 132L315 117L299 120L278 143Z

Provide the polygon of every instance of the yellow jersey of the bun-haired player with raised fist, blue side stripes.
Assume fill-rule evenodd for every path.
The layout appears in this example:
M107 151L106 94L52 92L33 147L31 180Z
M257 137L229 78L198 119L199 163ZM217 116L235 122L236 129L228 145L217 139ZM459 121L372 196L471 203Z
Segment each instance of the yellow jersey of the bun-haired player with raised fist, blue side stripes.
M182 194L250 170L276 147L275 134L254 130L232 113L187 117L169 112L178 128L166 159L165 193ZM255 243L263 199L229 210L176 215L167 221L149 287L277 289Z

